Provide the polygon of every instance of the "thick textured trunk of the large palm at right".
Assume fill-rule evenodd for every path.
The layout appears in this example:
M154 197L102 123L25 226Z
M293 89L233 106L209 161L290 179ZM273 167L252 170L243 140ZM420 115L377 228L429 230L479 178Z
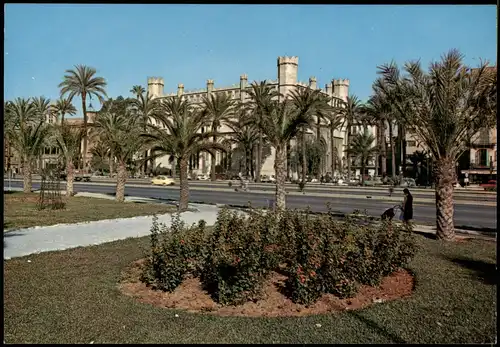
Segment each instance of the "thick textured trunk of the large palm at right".
M440 158L434 166L436 177L436 236L452 241L455 238L453 224L453 181L455 162L452 158Z

